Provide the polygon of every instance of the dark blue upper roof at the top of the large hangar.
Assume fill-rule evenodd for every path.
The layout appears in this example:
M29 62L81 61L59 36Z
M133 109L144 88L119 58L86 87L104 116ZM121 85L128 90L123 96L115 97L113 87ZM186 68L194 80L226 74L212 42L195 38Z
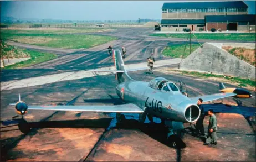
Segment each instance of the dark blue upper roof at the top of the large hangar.
M196 8L248 8L243 1L226 1L226 2L171 2L163 3L162 9L196 9Z

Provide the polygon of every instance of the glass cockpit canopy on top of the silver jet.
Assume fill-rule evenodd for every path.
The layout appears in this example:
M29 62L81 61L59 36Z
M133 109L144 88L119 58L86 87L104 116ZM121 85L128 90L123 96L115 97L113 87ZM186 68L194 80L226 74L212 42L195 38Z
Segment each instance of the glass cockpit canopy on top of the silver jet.
M152 79L149 83L149 87L155 90L161 90L166 92L180 92L178 87L173 82L170 82L163 77L157 77L155 79Z

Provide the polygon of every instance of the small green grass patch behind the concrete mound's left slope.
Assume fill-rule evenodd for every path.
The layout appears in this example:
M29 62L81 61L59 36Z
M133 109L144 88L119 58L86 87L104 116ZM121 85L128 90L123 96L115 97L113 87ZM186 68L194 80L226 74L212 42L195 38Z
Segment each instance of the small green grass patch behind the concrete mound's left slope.
M194 50L199 48L199 44L191 44L191 53L193 53ZM165 56L170 56L173 58L182 58L182 55L184 54L184 45L170 45L167 46L163 51L162 54ZM183 58L186 58L188 55L190 55L190 45L187 44L186 49L185 49L185 54L183 55Z

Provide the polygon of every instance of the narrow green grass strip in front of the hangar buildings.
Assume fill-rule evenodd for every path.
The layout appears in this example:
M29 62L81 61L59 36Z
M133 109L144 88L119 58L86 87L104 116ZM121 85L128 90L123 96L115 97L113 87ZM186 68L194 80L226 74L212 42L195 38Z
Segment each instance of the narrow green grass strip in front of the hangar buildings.
M197 39L214 39L214 40L248 40L255 41L255 33L195 33ZM195 39L191 34L191 39ZM149 36L160 36L166 38L188 38L187 34L150 34Z

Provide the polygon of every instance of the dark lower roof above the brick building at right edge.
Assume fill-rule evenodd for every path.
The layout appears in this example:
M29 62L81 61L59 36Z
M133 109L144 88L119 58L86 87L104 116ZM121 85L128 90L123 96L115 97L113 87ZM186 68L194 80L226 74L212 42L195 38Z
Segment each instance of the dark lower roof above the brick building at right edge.
M245 15L206 15L206 22L255 22L255 14Z

